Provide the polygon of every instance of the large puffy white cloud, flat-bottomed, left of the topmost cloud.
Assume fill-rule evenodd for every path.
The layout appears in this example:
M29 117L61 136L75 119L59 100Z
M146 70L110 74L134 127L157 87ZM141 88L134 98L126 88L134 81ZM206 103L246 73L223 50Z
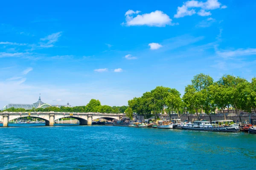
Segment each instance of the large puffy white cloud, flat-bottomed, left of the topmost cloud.
M166 25L176 25L172 23L172 19L167 15L164 14L163 11L153 11L149 14L142 14L137 15L134 17L134 14L139 13L140 11L132 11L128 10L125 13L125 20L126 23L122 23L122 25L127 26L156 26L156 27L164 27Z

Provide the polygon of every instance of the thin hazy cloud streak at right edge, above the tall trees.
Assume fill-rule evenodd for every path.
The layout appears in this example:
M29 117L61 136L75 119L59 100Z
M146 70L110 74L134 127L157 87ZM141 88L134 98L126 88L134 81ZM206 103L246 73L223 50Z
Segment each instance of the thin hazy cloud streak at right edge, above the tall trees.
M239 48L237 50L225 50L225 51L216 51L216 53L223 58L232 58L232 57L239 57L239 56L250 56L256 55L256 48Z

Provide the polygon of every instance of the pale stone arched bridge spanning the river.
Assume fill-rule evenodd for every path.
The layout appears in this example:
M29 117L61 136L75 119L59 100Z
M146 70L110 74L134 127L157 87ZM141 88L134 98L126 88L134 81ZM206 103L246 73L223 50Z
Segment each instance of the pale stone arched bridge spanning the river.
M48 126L53 126L54 121L61 118L74 118L79 120L79 125L91 125L94 119L107 119L120 120L125 116L125 113L74 113L74 112L3 112L0 113L0 122L3 122L3 126L8 126L8 122L17 118L22 117L33 117L39 118L45 121L45 124Z

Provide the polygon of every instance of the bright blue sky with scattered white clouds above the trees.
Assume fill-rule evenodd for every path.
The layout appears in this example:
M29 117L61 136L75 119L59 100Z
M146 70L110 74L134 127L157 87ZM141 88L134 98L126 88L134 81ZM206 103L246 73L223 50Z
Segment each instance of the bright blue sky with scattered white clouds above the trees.
M199 73L256 76L256 1L3 1L0 105L127 105Z

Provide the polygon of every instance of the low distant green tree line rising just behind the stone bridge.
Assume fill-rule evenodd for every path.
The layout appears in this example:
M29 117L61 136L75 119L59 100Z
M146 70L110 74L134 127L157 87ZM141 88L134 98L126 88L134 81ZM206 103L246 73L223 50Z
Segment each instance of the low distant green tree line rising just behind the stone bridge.
M85 106L75 106L75 107L48 107L48 108L32 108L30 110L26 110L24 108L8 108L4 111L9 112L24 112L24 111L57 111L57 112L99 112L99 113L124 113L125 109L128 106L108 106L101 105L99 100L91 99L90 102Z

